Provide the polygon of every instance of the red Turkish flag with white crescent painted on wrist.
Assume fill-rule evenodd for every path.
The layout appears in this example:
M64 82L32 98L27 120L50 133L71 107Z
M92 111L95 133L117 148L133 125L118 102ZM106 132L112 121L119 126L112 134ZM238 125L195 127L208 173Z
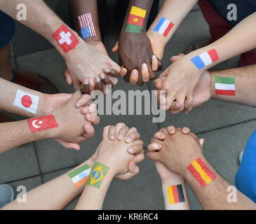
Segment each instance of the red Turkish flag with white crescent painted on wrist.
M32 118L27 120L31 132L41 132L52 128L57 128L58 123L52 114L41 118Z

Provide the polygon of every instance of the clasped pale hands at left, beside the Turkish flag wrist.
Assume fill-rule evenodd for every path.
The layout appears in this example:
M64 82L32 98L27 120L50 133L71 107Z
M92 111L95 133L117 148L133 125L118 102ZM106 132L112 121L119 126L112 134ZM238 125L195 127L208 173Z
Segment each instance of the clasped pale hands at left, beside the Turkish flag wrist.
M87 100L85 100L86 97ZM79 141L86 141L94 135L95 132L92 125L100 122L100 118L94 114L95 105L90 104L90 106L85 106L83 109L77 107L78 104L81 106L83 102L88 102L88 99L90 99L89 96L82 96L80 91L76 91L67 102L50 112L55 116L59 125L58 128L50 130L50 133L54 138L58 139L57 141L60 144L64 144L67 147L74 146L69 143L75 144ZM86 115L84 116L83 113L86 113Z

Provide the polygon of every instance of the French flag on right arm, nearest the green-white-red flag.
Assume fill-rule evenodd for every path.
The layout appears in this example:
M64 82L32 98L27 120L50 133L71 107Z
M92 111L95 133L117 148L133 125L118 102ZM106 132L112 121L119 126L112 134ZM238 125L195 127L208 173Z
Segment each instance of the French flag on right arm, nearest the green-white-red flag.
M205 66L216 62L219 59L219 55L217 54L217 50L212 49L207 52L203 52L201 55L197 55L191 59L191 62L198 68L203 69Z

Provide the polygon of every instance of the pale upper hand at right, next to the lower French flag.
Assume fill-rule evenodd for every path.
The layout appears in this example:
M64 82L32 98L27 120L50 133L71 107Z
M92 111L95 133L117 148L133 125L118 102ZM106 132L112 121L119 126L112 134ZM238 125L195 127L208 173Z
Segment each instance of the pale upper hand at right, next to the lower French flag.
M166 76L161 87L166 94L159 96L162 109L169 110L173 102L180 102L182 106L176 111L178 113L184 110L185 101L189 105L193 103L194 89L204 71L196 69L196 66L191 64L190 59L193 57L191 54L194 52L181 57L161 73L161 77ZM155 86L156 83L154 83Z

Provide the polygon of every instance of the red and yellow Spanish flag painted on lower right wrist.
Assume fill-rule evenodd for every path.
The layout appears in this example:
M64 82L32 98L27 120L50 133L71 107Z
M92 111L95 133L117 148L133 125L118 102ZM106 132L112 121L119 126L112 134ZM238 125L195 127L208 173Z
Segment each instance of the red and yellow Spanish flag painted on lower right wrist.
M208 185L214 179L216 179L215 174L210 171L210 169L201 158L197 158L191 162L187 169L189 169L189 172L194 176L196 181L198 181L202 187Z

